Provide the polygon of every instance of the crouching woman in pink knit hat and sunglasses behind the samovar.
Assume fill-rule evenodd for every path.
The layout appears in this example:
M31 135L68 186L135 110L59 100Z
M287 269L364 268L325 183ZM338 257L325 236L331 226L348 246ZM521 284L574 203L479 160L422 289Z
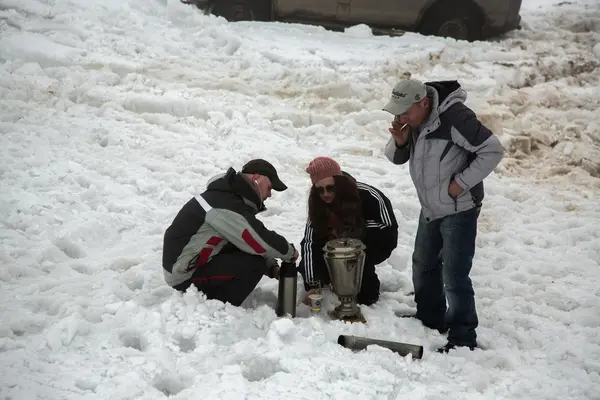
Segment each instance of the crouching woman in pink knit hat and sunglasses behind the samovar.
M398 224L389 199L379 189L357 182L329 157L315 158L306 172L312 187L299 270L307 296L331 281L323 258L325 243L351 237L362 240L367 247L357 301L375 303L380 285L375 266L391 255L398 241Z

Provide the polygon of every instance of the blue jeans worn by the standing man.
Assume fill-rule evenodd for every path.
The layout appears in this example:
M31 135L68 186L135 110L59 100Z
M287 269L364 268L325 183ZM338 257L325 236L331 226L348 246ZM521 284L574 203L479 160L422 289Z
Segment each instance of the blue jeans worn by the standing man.
M415 239L416 317L430 328L449 328L448 341L457 346L477 346L478 319L469 273L480 210L475 207L429 223L421 213Z

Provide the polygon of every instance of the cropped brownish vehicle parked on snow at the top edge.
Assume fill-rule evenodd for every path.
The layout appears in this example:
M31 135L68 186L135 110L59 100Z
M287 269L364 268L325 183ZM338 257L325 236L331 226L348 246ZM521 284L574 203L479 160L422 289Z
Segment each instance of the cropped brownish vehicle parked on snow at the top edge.
M181 0L229 21L260 20L375 33L481 40L520 28L522 0Z

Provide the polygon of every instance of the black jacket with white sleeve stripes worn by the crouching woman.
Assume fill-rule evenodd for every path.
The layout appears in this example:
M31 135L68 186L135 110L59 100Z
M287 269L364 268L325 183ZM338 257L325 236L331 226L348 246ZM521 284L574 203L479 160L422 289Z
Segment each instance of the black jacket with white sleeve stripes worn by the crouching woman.
M345 174L347 175L347 174ZM366 245L365 268L381 264L398 245L398 223L390 200L375 187L356 182L362 203ZM315 241L310 219L300 243L301 260L298 270L304 279L304 288L322 287L330 283L327 265L323 257L324 242Z

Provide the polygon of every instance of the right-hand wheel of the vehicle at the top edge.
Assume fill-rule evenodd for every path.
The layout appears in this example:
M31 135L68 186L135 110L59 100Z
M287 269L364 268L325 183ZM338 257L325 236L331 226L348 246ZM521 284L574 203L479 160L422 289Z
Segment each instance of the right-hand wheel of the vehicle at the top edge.
M475 4L444 0L432 5L425 13L419 32L472 42L482 38L482 28L483 17Z

